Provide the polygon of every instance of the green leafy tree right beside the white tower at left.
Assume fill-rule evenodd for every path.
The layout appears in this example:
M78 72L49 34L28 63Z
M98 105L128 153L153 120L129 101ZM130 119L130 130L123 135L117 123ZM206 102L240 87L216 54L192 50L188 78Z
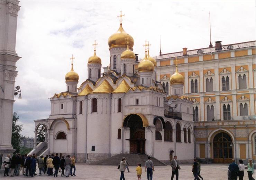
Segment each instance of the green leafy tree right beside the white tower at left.
M20 151L20 140L21 135L20 132L22 131L22 125L18 125L17 122L19 120L19 116L17 116L17 112L14 112L12 115L12 134L11 134L11 145L13 149L16 149L14 153L18 153Z

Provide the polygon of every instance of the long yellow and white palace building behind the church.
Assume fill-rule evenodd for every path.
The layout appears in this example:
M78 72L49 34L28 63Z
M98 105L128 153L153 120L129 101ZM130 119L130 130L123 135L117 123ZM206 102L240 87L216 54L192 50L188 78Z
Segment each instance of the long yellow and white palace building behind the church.
M156 80L172 90L174 59L185 79L183 94L192 98L194 155L213 162L255 159L256 41L162 54Z

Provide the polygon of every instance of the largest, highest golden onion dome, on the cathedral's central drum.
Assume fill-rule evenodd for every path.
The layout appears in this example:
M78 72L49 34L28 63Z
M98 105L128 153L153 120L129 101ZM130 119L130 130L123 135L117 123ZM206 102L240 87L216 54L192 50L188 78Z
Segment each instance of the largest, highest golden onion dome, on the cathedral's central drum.
M120 27L117 30L116 33L112 34L108 38L108 45L109 47L116 47L116 46L125 46L126 45L126 39L127 39L127 32L122 27L122 23L120 23ZM132 48L134 45L134 39L128 35L129 37L129 46Z

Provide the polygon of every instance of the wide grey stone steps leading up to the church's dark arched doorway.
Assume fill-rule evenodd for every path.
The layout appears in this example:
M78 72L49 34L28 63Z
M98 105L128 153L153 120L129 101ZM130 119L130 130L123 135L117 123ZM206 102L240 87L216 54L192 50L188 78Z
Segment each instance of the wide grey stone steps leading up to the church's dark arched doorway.
M103 159L100 161L90 161L89 164L97 164L97 165L119 165L122 157L128 158L127 161L130 166L136 166L137 163L140 163L142 167L144 167L145 162L148 160L147 154L118 154L112 156L107 159ZM159 161L158 159L151 157L150 160L153 161L154 166L166 165L165 163Z

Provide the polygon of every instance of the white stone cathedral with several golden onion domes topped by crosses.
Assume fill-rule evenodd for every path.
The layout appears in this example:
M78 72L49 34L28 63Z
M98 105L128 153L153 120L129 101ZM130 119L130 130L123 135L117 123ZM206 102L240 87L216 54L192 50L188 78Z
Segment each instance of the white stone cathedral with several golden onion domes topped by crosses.
M147 154L163 162L174 155L182 162L194 158L193 101L183 95L179 60L175 60L176 70L168 81L171 95L167 95L165 85L156 80L157 62L149 56L149 44L145 43L145 57L138 61L134 39L120 22L108 39L110 64L103 73L94 42L88 79L78 86L72 55L66 91L51 97L48 119L35 120L35 137L43 127L45 142L37 144L35 138L31 153L71 154L77 162L120 153Z

